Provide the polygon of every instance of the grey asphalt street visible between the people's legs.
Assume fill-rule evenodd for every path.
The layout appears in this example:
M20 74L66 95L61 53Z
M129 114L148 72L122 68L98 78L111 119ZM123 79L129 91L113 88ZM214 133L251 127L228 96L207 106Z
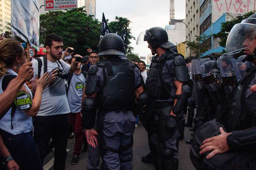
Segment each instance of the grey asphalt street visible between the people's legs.
M185 143L186 140L191 138L191 131L188 127L185 127L185 138L179 143L179 170L195 170L189 157L190 146ZM66 169L67 170L86 170L87 156L88 153L81 154L79 163L76 165L70 165L73 156L74 139L68 140L67 149L69 149L66 158ZM151 164L143 163L141 157L149 153L148 137L147 133L142 126L139 124L138 128L134 131L134 144L133 144L133 169L134 170L154 170L154 166ZM53 164L52 158L54 152L50 153L44 160L44 165L48 163L48 168L44 167L44 170L48 170ZM52 160L52 161L51 161ZM53 167L50 168L53 170Z

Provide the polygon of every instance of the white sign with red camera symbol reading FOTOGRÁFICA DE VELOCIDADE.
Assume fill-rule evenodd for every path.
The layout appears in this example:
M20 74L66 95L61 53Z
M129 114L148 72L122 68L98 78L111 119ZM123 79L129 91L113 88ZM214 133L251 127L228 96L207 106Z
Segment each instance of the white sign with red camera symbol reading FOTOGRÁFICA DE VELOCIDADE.
M77 0L45 0L44 10L64 10L77 8Z

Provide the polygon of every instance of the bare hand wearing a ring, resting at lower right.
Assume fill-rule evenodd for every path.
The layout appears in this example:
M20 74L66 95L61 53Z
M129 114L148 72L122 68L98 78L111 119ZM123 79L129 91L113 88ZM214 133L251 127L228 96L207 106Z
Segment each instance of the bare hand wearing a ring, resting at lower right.
M212 151L210 154L206 156L207 159L213 157L216 154L222 154L229 150L229 145L227 143L227 137L231 133L227 133L220 127L221 134L218 136L214 136L208 139L205 139L200 147L200 154L204 154L208 151Z

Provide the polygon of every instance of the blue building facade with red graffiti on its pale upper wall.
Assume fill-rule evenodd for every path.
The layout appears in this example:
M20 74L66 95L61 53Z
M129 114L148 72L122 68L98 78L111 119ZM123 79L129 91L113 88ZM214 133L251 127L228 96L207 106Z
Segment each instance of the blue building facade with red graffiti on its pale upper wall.
M203 42L208 50L201 57L209 54L220 55L225 48L219 46L219 38L211 35L221 31L223 22L232 20L237 15L255 11L255 5L255 1L248 0L200 0L200 36L209 36Z

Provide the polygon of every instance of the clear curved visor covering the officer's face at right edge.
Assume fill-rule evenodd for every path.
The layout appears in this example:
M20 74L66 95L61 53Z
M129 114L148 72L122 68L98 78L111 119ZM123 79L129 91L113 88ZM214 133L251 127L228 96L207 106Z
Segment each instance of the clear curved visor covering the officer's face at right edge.
M256 38L256 25L251 23L235 24L231 29L226 50L229 54L239 53L242 49L253 44Z

